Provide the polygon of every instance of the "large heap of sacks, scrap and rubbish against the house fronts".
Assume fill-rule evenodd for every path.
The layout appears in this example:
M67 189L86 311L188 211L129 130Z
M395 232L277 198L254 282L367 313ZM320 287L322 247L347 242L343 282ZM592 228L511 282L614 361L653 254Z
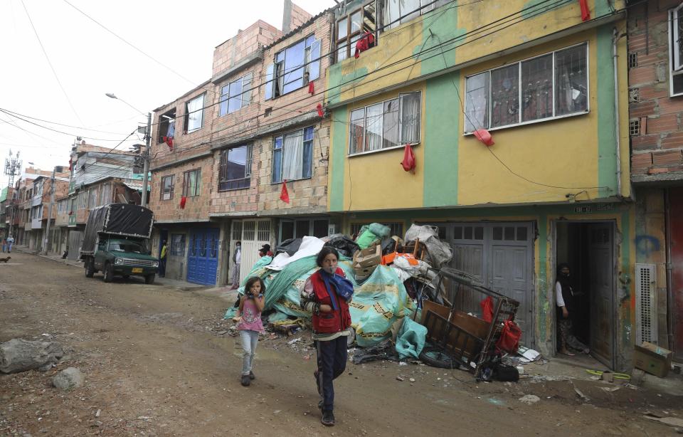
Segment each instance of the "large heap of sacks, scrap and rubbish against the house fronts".
M355 239L335 234L284 241L274 258L261 258L248 275L263 279L268 290L263 312L268 330L290 335L309 327L311 314L300 307L300 292L317 270L315 258L323 246L337 248L339 267L354 285L349 304L352 338L359 347L354 361L420 359L436 367L465 368L479 379L502 379L499 374L509 370L500 355L517 349L519 302L449 268L450 245L434 226L413 224L401 238L391 236L388 226L372 223ZM462 307L462 293L471 292L484 297L479 317ZM238 294L243 293L240 287ZM231 319L236 306L224 318Z

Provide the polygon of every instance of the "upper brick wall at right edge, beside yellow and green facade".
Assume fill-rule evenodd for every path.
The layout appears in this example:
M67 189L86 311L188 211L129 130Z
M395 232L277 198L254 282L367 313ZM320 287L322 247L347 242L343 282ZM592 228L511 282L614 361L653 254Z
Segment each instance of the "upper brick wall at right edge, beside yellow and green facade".
M634 179L683 171L683 96L669 97L668 10L679 0L629 9L629 125ZM647 7L646 7L647 6ZM638 127L639 125L639 127Z

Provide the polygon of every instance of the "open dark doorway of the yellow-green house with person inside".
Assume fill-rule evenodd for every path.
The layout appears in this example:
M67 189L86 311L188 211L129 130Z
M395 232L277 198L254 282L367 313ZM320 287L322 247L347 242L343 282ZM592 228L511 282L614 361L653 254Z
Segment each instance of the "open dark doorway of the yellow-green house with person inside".
M591 355L613 369L615 313L615 225L613 221L558 221L556 223L556 269L569 265L572 332L591 349ZM556 293L554 302L556 303ZM557 307L557 305L555 305ZM556 314L556 343L560 346L559 317Z

